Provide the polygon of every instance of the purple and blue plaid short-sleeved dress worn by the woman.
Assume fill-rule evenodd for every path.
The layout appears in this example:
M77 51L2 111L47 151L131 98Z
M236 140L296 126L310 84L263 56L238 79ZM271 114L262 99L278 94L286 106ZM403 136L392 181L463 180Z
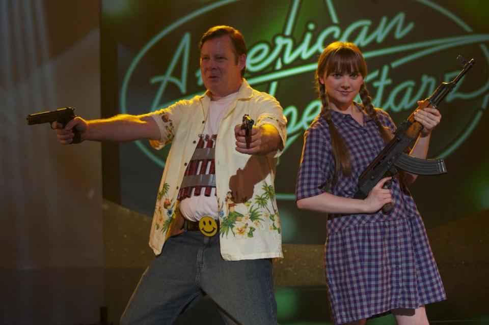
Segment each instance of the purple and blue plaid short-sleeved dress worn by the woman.
M390 116L377 109L379 120L393 132ZM296 200L325 191L352 197L358 178L385 143L364 112L364 126L351 115L331 111L351 157L351 176L338 175L331 186L335 159L327 122L316 117L305 132ZM397 179L390 186L390 214L330 215L325 245L325 273L333 321L337 324L415 309L446 299L426 231L408 189Z

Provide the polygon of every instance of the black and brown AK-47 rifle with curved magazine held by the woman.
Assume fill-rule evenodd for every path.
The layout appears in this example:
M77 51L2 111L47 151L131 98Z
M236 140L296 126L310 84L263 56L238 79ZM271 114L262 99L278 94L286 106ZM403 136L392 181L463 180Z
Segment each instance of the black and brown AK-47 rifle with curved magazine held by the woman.
M426 108L430 104L432 107L437 108L438 104L453 90L457 82L475 64L474 59L468 62L460 55L457 56L457 60L463 65L462 71L452 81L442 82L437 90L415 109L408 117L408 120L401 123L394 133L392 140L360 175L358 191L354 198L366 198L380 180L387 176L394 178L394 175L397 174L397 168L418 175L439 175L447 172L443 158L420 159L410 156L405 151L410 149L410 144L418 138L419 133L423 129L421 123L414 120L414 113L419 109ZM390 181L386 182L384 188L389 186L387 183L390 184ZM387 203L382 208L384 213L389 213L391 209L392 203Z

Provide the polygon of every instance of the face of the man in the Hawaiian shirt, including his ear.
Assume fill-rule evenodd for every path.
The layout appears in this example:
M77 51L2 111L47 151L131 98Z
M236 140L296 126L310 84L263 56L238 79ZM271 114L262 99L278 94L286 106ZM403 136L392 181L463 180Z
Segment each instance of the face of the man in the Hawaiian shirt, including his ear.
M246 55L234 55L234 46L227 35L205 41L200 51L202 80L212 99L216 100L239 90L241 69L246 65Z

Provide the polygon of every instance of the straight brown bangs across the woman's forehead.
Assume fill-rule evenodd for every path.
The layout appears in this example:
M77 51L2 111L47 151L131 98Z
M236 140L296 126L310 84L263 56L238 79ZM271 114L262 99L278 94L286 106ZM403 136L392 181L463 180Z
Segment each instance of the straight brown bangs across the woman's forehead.
M367 75L367 67L363 57L349 48L339 48L331 53L326 66L326 73L351 74L360 73L363 77Z

